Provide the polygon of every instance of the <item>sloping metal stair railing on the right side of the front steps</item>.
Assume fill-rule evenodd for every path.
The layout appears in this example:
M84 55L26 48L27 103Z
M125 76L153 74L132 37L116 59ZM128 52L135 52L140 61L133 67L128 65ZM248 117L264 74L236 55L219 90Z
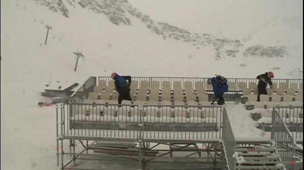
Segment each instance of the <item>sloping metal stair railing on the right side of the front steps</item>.
M294 170L296 142L275 108L272 111L271 141L286 170Z

